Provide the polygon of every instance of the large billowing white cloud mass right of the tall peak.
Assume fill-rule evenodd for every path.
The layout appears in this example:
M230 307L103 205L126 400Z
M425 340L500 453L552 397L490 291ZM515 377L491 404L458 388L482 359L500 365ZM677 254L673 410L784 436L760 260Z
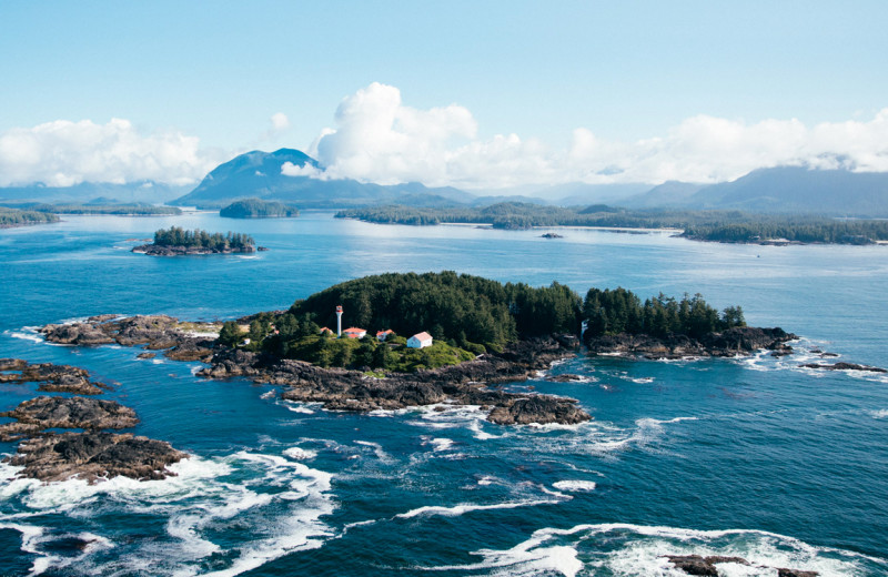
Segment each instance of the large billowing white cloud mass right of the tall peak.
M666 134L632 142L578 128L562 150L517 134L476 134L477 122L463 107L410 108L397 88L373 83L342 101L335 128L324 129L311 151L325 178L468 189L718 182L778 165L888 171L888 109L869 121L814 126L795 119L747 123L697 115Z

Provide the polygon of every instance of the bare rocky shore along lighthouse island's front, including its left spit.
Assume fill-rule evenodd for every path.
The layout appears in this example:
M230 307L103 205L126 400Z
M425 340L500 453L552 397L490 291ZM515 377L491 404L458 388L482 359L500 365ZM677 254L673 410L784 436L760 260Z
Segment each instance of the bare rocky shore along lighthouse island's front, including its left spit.
M526 381L557 360L576 354L571 335L521 341L503 353L417 373L389 373L384 378L363 371L322 368L302 361L275 358L219 345L214 338L190 336L183 323L165 315L92 316L83 322L50 324L39 330L48 342L93 346L117 343L144 345L174 361L201 361L210 366L198 374L206 378L248 377L285 387L283 398L323 403L333 411L370 412L410 406L480 405L492 423L577 424L592 417L573 398L511 393L488 385ZM142 352L145 358L153 353Z

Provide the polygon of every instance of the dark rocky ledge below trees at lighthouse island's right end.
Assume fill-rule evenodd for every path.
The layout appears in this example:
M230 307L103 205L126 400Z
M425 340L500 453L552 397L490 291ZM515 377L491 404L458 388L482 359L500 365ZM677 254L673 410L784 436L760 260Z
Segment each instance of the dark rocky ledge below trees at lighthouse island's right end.
M700 338L670 334L656 337L646 334L587 336L589 353L618 353L626 356L646 358L684 358L689 356L737 356L755 351L769 350L781 354L791 353L786 343L796 340L793 333L783 328L758 328L743 326L728 328L720 333L709 333Z

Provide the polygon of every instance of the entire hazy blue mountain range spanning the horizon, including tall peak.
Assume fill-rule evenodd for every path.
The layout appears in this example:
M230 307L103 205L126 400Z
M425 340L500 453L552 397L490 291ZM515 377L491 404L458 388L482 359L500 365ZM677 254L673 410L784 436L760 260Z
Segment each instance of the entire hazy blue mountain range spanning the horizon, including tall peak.
M289 163L289 164L287 164ZM382 185L352 179L324 179L319 162L295 149L240 154L213 169L193 190L151 181L128 184L81 183L0 188L0 202L165 202L218 209L239 199L260 198L300 209L339 209L374 204L412 206L490 205L504 201L536 204L610 204L633 209L743 210L767 213L820 213L888 217L888 173L777 166L717 184L666 182L522 186L497 194L472 194L418 182ZM503 195L504 193L513 193Z

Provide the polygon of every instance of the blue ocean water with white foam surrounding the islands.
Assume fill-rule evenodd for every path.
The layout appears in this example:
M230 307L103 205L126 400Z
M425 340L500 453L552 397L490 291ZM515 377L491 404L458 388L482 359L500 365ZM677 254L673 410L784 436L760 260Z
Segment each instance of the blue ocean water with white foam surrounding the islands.
M269 252L154 259L176 224ZM493 231L215 214L67 216L0 231L0 357L119 386L137 434L193 455L162 482L40 484L0 465L0 574L680 575L663 555L741 556L729 575L888 575L888 378L799 368L823 348L888 366L888 247L695 243L668 232ZM578 398L581 426L501 427L474 407L354 415L283 402L198 363L56 346L32 327L100 313L231 318L386 271L478 274L581 293L703 293L801 337L798 355L553 367L516 389ZM0 387L0 411L34 395ZM0 444L11 453L13 444ZM72 537L89 541L74 547Z

